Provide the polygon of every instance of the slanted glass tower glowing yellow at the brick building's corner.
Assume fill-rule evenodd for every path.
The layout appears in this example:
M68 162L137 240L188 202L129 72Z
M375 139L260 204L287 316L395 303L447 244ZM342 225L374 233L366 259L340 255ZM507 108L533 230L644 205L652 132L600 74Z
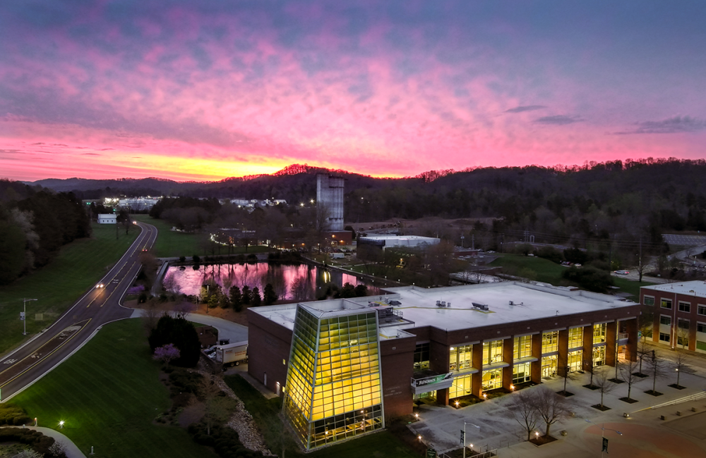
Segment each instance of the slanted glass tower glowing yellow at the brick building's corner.
M285 416L307 450L384 427L375 311L297 308Z

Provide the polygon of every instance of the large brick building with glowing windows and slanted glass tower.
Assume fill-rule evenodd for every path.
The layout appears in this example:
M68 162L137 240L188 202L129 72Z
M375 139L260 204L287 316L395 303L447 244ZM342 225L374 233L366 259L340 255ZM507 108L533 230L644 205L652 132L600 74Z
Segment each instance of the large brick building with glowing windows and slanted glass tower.
M639 314L618 297L515 282L257 307L249 373L285 397L311 450L384 428L420 398L448 405L634 361Z

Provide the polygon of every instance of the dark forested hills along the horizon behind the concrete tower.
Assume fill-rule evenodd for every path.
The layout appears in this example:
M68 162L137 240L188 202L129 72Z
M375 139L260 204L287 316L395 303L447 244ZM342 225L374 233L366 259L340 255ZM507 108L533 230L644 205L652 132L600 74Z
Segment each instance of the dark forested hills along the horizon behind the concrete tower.
M227 178L219 182L145 180L43 180L80 198L107 193L189 197L286 199L316 197L310 166L289 166L274 175ZM609 233L706 230L706 161L641 159L584 166L475 168L431 171L414 178L372 178L333 171L346 178L348 221L388 218L496 217L505 227L571 236ZM64 182L68 187L59 183ZM93 187L100 184L100 187ZM72 185L76 185L73 187ZM108 190L106 188L109 188ZM150 192L151 190L151 192Z

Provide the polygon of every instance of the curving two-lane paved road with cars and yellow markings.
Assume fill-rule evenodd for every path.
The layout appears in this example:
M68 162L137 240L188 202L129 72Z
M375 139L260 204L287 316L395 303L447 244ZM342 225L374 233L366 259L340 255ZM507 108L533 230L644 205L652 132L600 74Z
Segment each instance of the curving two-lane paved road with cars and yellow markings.
M155 226L137 224L142 232L100 280L103 288L90 290L52 326L0 360L1 401L9 400L61 364L102 325L131 316L133 311L122 307L119 300L140 271L140 252L150 249L157 238Z

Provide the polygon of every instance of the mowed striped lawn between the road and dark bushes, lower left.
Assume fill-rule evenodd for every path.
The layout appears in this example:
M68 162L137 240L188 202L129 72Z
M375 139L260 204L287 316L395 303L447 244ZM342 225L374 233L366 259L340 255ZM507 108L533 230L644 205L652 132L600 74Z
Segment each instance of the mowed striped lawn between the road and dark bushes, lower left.
M40 426L64 420L61 432L87 455L93 446L95 457L214 458L186 430L152 424L170 407L159 372L142 321L118 321L11 402Z

